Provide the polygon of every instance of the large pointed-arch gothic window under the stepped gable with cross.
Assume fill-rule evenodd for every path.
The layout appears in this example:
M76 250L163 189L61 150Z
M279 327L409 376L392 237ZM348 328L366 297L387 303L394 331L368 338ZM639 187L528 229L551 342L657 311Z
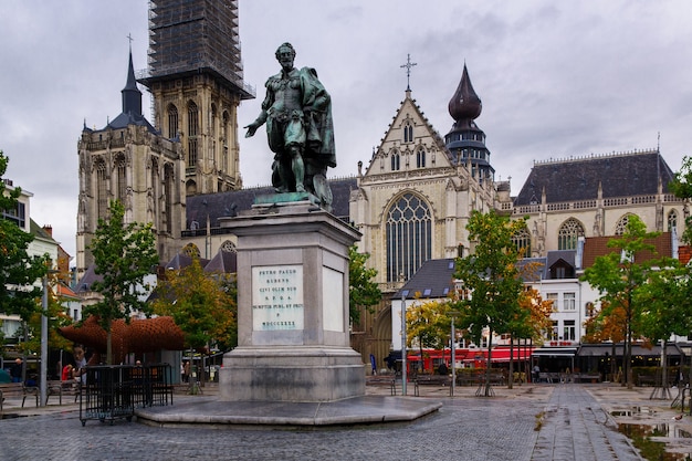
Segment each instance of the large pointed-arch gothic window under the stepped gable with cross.
M430 207L405 193L387 212L387 282L408 280L432 254Z

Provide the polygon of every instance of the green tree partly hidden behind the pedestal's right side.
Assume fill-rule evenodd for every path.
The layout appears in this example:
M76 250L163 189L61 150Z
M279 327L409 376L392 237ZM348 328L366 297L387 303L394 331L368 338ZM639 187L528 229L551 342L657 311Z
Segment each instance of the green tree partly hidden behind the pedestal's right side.
M367 266L369 253L358 253L356 245L348 249L348 313L350 322L358 324L364 310L370 310L382 298L382 293L373 280L377 270Z

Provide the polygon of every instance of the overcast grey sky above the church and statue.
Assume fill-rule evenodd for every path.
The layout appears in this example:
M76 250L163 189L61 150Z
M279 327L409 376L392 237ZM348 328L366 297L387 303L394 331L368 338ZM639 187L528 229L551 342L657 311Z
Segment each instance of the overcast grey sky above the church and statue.
M240 0L244 80L239 125L260 112L285 41L296 66L315 67L333 98L338 167L355 175L403 99L441 136L464 62L483 102L496 179L516 195L535 160L656 148L678 170L692 155L692 3L680 1ZM289 7L290 6L290 7ZM145 0L0 2L0 149L6 178L33 193L31 217L51 224L73 256L77 150L84 122L120 113L128 40L147 64ZM146 113L149 96L145 93ZM153 118L148 117L150 121ZM242 137L245 186L266 185L264 127Z

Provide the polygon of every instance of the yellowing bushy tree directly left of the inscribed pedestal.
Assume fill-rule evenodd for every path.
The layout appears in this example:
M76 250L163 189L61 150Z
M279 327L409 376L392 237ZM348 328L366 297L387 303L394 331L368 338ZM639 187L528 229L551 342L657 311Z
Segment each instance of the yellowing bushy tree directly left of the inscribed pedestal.
M238 345L238 304L227 274L209 274L199 258L159 282L154 312L170 315L185 333L186 347L202 350L216 343L222 349Z

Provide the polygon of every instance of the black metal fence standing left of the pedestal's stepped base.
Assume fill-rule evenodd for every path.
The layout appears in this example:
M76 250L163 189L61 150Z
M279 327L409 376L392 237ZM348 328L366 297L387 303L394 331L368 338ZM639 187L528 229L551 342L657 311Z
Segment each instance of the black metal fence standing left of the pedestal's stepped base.
M155 365L98 365L86 367L80 392L80 420L132 420L135 409L172 405L171 368Z

